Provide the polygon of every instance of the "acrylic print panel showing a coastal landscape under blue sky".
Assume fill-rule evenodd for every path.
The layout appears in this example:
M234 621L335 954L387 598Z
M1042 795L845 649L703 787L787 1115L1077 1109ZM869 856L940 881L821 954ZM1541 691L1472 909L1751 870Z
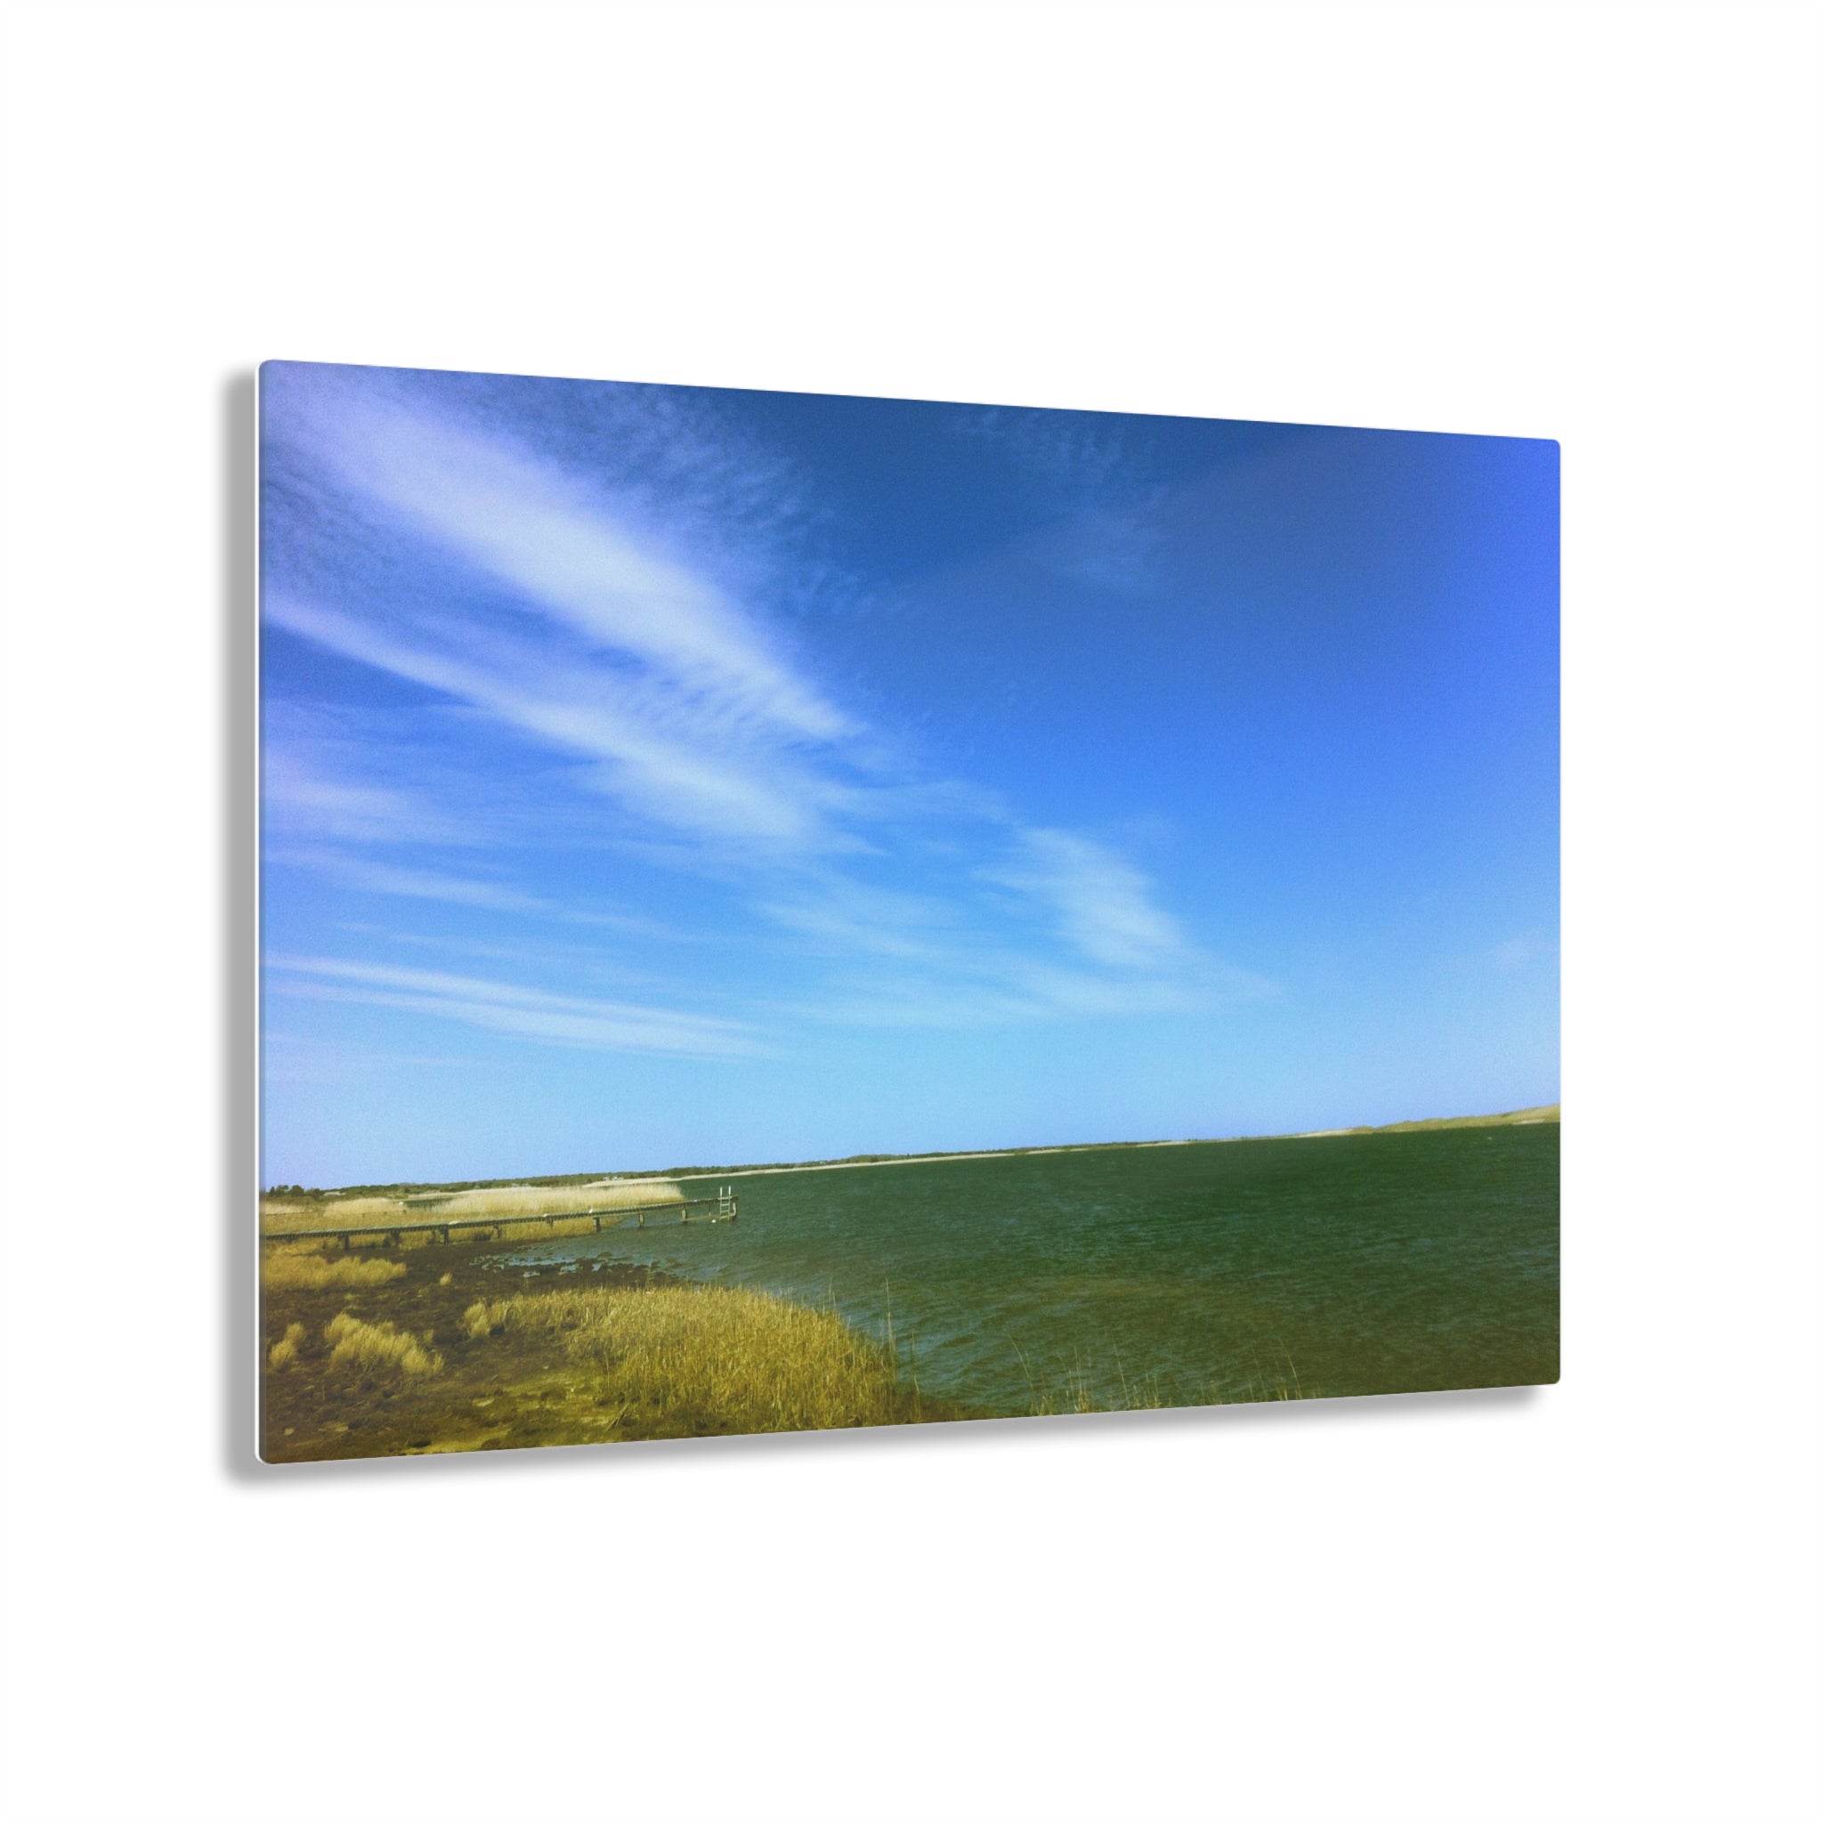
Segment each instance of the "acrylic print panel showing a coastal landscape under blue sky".
M273 363L263 1453L1557 1376L1557 447Z

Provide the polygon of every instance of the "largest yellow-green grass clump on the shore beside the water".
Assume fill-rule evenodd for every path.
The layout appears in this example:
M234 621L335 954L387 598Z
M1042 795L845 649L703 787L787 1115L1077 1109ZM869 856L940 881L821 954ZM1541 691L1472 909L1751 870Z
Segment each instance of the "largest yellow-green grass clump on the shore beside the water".
M554 1329L602 1400L658 1424L824 1431L897 1424L891 1356L831 1311L760 1291L665 1285L556 1291L469 1311L470 1336Z

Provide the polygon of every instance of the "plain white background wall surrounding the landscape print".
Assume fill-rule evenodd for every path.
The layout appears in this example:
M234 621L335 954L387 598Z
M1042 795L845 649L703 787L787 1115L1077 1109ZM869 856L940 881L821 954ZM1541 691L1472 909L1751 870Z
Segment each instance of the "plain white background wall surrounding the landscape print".
M1818 22L15 5L9 1816L1814 1816ZM1562 438L1562 1385L257 1469L264 355Z

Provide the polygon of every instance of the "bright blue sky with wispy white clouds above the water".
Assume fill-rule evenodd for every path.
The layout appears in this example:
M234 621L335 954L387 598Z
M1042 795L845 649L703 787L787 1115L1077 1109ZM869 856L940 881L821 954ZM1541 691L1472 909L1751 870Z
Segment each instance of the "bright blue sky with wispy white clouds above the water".
M268 363L264 1176L1557 1097L1557 445Z

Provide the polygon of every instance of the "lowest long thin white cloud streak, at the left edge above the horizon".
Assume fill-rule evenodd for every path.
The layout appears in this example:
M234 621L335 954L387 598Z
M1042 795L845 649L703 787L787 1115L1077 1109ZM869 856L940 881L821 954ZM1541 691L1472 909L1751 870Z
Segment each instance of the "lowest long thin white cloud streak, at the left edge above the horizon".
M667 1006L583 999L476 975L328 957L273 955L266 966L275 973L275 984L290 994L427 1014L551 1045L676 1057L751 1057L760 1052L753 1030L740 1021Z

